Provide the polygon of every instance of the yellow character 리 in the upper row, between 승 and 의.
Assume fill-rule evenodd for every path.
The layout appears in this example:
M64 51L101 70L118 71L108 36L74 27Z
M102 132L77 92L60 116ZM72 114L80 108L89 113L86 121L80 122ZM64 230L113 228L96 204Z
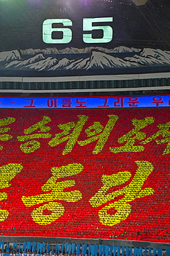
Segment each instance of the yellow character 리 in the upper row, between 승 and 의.
M55 134L55 138L52 138L48 143L51 147L55 147L60 143L68 140L68 142L66 143L66 147L62 152L63 155L68 154L72 151L86 120L88 120L88 116L84 115L79 115L78 118L79 120L77 121L77 123L67 122L66 124L57 125L59 129L62 129L63 131L59 134Z

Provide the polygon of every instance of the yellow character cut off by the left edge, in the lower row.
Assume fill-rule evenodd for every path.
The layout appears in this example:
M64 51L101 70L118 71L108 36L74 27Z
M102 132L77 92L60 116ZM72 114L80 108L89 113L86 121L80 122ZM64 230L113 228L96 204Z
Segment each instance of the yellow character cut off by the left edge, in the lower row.
M15 178L15 176L21 172L23 166L18 163L8 163L8 165L3 165L0 167L0 189L10 187L10 181ZM0 201L8 198L6 192L0 193ZM0 221L7 219L9 212L7 210L0 210Z

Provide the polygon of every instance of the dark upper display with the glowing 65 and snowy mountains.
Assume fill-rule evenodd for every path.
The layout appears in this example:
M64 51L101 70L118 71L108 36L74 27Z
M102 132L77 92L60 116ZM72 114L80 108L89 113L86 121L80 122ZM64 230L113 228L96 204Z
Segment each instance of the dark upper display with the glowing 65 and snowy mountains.
M169 72L168 0L8 0L0 8L1 77Z

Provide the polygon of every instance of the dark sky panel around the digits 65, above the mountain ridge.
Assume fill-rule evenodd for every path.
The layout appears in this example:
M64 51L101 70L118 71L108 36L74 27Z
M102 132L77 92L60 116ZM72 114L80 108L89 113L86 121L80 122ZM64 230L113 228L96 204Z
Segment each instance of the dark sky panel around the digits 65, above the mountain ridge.
M168 0L149 0L144 6L136 6L131 0L9 0L1 1L0 8L0 51L121 45L170 49ZM85 44L82 41L84 17L113 17L113 40L108 44ZM41 35L43 21L59 18L73 21L73 40L69 44L45 44Z

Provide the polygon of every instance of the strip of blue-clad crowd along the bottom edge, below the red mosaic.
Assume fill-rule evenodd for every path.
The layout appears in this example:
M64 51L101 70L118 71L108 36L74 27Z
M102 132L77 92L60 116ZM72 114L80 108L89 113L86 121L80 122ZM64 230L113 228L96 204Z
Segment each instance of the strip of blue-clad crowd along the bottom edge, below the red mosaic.
M13 243L10 246L9 243L0 242L1 250L6 251L6 256L10 254L28 255L28 253L40 253L40 255L169 255L169 248L167 250L158 249L147 249L147 248L132 248L127 246L105 246L105 245L91 245L91 244L46 244L36 242L24 242ZM97 253L98 252L98 253Z

